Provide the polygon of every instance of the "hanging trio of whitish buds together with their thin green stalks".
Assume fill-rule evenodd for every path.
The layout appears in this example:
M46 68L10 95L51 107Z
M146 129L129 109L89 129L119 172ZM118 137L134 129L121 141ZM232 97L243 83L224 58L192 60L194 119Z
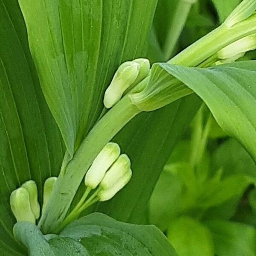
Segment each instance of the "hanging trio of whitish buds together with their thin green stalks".
M97 201L103 202L113 198L129 182L132 175L131 161L126 154L120 155L120 152L119 145L112 142L99 152L84 177L86 186L84 195L60 224L59 230L78 218L84 209Z

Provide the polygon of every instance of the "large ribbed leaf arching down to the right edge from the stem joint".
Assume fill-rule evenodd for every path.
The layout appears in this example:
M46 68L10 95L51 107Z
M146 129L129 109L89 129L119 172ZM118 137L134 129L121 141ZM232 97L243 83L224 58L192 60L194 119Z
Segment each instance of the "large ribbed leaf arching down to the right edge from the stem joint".
M207 69L159 65L197 93L221 128L239 140L256 160L256 61L239 61ZM189 92L185 88L177 90L174 98L183 93Z

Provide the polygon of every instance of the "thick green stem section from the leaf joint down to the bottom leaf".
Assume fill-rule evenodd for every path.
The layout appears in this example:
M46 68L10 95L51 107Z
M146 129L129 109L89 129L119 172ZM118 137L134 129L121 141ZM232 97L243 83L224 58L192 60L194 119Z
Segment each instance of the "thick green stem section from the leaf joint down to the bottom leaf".
M94 158L140 112L131 99L125 96L97 122L68 163L65 173L59 175L55 183L47 208L38 224L43 233L56 232Z

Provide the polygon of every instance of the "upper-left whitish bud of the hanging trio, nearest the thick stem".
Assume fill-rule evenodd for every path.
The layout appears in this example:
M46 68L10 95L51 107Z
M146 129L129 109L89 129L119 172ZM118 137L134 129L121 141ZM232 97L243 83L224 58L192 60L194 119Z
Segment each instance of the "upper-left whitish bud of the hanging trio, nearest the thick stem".
M94 159L84 179L86 186L95 189L102 181L105 173L120 155L120 147L117 143L110 142L99 152Z

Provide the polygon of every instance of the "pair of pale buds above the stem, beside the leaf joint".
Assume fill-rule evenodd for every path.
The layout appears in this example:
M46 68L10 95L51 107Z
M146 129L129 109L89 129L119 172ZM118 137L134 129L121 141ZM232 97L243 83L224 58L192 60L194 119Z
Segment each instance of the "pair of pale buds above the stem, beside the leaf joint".
M133 61L122 63L105 91L103 103L106 108L112 108L122 96L142 81L150 70L148 59L137 58Z

